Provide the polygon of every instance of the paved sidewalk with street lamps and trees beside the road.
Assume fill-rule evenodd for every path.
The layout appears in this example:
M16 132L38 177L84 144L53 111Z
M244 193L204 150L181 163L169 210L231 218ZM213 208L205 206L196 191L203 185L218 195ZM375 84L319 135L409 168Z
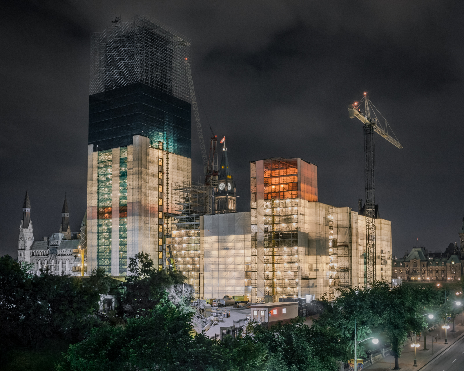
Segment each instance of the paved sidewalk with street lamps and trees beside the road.
M452 324L450 325L450 330L452 329ZM414 348L411 346L411 342L407 342L399 358L400 369L403 371L419 371L425 364L431 361L433 358L438 356L441 352L447 349L451 344L453 344L461 335L464 335L464 326L457 325L455 323L455 333L448 331L448 344L445 345L445 330L442 330L442 337L440 339L440 328L435 329L427 333L427 350L424 350L424 336L420 338L419 348L417 348L417 367L414 367ZM435 337L438 335L438 341L435 341ZM432 337L433 340L433 353L432 353ZM369 371L386 371L390 370L391 367L395 367L395 358L393 356L387 356L385 358L379 359L377 362L374 362L374 365L368 365L364 369Z

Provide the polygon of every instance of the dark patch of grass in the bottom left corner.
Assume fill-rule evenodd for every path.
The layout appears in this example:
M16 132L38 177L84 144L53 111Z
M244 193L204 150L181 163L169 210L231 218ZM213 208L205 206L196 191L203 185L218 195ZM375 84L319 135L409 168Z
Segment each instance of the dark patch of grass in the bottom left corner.
M64 340L49 340L34 350L15 349L2 357L0 371L54 371L55 364L63 359L61 353L68 350L69 344Z

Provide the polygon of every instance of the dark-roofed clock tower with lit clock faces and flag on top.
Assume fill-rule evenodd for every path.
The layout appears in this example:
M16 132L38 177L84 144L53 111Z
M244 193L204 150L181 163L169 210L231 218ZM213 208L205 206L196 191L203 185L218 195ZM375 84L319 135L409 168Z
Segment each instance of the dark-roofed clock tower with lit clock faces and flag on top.
M222 158L219 165L218 188L214 192L214 212L216 214L225 214L237 211L237 194L235 182L230 172L229 160L227 159L226 137L221 143Z

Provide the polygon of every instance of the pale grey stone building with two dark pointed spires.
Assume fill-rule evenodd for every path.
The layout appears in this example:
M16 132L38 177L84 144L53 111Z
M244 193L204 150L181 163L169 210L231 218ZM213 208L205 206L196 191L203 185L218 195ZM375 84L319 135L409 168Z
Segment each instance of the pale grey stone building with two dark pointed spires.
M41 270L49 270L54 275L81 275L80 235L71 232L66 198L58 233L53 233L51 237L43 237L42 241L34 241L33 230L31 202L26 191L23 217L19 225L18 262L32 263L31 273L35 275L40 275Z

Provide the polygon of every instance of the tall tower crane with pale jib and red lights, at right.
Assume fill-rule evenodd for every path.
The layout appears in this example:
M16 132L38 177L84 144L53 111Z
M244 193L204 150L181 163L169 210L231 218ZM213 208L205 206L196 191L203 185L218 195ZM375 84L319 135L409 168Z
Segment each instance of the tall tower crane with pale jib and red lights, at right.
M361 105L364 103L364 109ZM380 134L387 141L398 148L403 148L385 117L367 97L367 93L359 102L354 102L348 108L349 117L357 118L364 126L364 186L366 191L366 270L367 270L367 285L372 285L376 280L376 249L375 249L375 186L374 186L374 132ZM383 124L379 120L379 116L385 121ZM393 134L390 135L389 133Z

